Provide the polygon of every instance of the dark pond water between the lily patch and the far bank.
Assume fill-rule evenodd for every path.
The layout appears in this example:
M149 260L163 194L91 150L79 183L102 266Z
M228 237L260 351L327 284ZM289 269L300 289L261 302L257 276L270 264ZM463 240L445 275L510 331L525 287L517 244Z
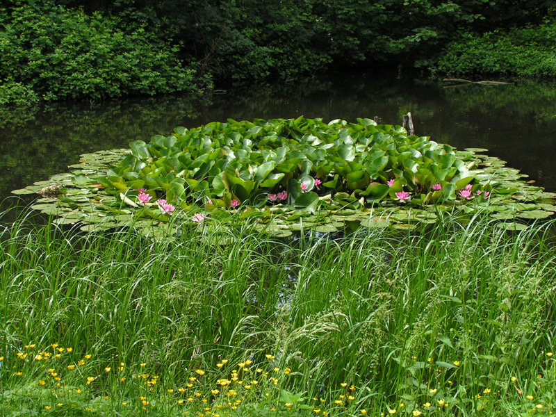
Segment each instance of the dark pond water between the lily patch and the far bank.
M556 83L465 85L413 78L338 76L253 86L202 100L154 97L0 108L0 201L11 190L66 172L79 155L167 135L175 126L211 121L320 117L355 121L379 116L401 124L411 111L416 134L489 154L556 191ZM3 202L6 208L9 202Z

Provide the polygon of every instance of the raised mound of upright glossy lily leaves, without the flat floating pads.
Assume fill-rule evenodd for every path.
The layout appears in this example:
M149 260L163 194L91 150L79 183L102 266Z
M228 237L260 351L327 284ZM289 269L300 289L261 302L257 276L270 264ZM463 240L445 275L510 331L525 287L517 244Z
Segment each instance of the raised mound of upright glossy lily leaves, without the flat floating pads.
M278 203L314 211L320 197L336 193L363 205L466 200L472 187L490 193L472 168L452 147L408 136L400 126L299 117L213 122L136 140L131 155L98 181L115 195L136 190L142 204L164 202L158 206L167 214L194 205L211 211Z

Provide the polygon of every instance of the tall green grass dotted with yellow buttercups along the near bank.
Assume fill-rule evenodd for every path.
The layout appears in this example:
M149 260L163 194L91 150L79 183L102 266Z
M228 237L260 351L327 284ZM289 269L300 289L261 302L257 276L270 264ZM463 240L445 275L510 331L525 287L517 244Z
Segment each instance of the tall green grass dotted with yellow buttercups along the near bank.
M0 230L2 416L529 416L556 406L553 222L172 242Z

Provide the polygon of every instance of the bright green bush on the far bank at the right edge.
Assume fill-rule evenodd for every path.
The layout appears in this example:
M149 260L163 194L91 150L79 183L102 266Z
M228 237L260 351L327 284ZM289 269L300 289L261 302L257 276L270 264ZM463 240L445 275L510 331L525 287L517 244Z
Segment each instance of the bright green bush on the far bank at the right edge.
M443 49L430 70L448 76L506 74L553 78L555 44L556 22L482 35L464 33Z

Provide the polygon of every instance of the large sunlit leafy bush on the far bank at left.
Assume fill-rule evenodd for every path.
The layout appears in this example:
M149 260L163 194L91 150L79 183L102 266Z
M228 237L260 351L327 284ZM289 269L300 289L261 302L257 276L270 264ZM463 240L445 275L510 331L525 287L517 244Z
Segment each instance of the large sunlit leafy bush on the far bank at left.
M142 26L122 31L115 17L49 2L23 3L0 17L3 104L198 88L193 68L175 57L178 47Z

